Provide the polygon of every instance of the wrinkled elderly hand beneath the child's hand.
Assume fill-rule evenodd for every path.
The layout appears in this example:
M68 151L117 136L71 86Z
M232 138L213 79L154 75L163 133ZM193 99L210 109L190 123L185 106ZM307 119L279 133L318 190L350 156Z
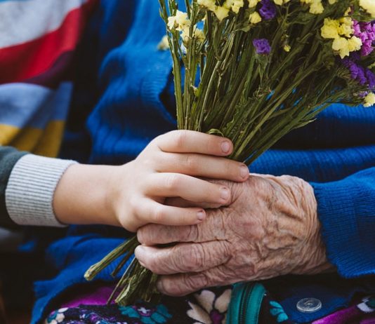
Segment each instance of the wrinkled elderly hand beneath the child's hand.
M225 184L232 192L230 205L207 210L201 224L150 224L138 231L142 245L136 257L162 275L161 292L179 296L213 285L332 268L320 238L310 184L271 175Z

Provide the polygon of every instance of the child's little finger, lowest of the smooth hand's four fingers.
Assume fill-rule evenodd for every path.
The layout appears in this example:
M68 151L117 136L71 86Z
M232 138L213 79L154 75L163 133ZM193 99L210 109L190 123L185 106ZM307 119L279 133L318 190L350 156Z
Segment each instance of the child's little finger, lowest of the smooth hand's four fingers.
M202 208L166 206L151 199L139 203L135 210L136 217L143 220L145 224L183 226L199 224L206 217L206 212Z

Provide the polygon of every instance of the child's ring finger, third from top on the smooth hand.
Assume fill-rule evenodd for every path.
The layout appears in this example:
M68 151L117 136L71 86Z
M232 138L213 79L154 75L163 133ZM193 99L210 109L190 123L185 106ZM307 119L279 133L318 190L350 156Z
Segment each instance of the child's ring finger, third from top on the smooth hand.
M230 190L223 184L181 175L179 173L154 173L145 182L145 194L157 197L181 197L188 201L230 203Z

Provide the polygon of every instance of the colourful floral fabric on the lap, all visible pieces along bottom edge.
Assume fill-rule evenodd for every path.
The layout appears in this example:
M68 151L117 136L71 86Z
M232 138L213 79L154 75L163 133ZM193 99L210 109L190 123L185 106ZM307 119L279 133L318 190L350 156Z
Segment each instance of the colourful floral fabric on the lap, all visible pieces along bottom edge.
M105 305L111 288L98 288L81 299L72 300L53 311L45 324L226 324L232 289L204 289L187 297L163 297L160 304L137 302L131 306ZM75 306L69 306L75 305ZM294 324L279 302L266 293L258 319L259 324ZM358 304L315 320L311 324L374 324L375 296ZM230 323L237 324L237 323Z

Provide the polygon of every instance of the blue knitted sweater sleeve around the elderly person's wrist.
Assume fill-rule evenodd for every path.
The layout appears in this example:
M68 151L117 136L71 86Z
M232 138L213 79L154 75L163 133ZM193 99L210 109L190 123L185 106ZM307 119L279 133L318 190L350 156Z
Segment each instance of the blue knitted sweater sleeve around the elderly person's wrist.
M375 274L375 168L311 183L329 261L344 278Z

